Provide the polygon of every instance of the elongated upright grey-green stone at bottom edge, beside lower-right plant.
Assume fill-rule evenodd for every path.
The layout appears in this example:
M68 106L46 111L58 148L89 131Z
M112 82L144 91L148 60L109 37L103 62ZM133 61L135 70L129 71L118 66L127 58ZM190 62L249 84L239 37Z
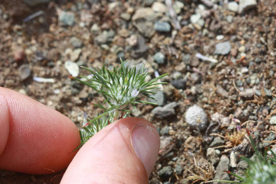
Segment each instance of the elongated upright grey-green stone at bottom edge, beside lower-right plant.
M216 168L216 174L214 179L218 180L229 180L229 175L224 172L229 170L229 159L226 155L222 155L220 157L220 161ZM218 184L220 182L214 182L214 184Z

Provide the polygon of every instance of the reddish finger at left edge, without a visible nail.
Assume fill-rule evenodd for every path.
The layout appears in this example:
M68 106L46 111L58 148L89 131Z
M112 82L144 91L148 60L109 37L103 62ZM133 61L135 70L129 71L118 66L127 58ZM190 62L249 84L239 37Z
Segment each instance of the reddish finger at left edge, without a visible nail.
M0 87L0 168L46 174L64 169L80 144L67 117L25 95Z

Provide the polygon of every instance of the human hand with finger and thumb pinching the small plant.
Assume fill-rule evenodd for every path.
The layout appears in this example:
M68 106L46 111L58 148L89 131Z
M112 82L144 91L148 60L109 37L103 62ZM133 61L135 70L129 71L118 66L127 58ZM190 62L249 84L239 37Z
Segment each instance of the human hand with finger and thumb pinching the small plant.
M126 118L111 123L74 152L79 144L78 128L70 119L0 87L1 169L48 174L70 164L61 183L148 183L159 135L149 122Z

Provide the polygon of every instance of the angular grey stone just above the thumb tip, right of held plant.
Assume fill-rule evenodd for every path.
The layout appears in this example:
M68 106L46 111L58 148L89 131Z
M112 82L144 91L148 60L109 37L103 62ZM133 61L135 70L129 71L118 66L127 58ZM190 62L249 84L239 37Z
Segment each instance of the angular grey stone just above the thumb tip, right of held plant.
M159 118L159 119L167 118L167 117L175 115L174 108L177 105L178 104L176 102L171 102L171 103L165 105L164 107L158 106L158 107L155 107L154 109L152 109L151 113L153 114L154 117Z

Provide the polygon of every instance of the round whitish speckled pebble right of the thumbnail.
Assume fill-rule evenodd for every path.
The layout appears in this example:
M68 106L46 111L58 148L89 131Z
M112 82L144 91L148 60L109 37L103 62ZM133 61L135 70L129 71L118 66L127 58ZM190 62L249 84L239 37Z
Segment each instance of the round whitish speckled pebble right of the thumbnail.
M207 114L197 105L188 108L185 113L185 120L192 129L199 129L200 131L205 129L208 122Z

